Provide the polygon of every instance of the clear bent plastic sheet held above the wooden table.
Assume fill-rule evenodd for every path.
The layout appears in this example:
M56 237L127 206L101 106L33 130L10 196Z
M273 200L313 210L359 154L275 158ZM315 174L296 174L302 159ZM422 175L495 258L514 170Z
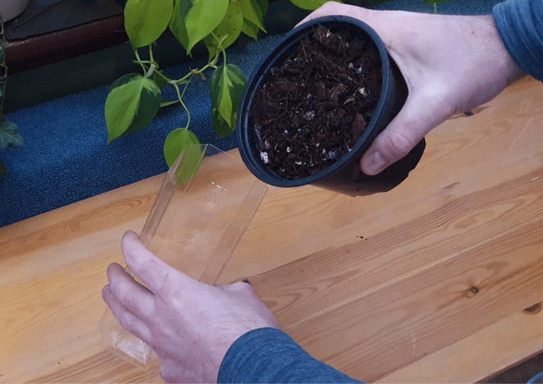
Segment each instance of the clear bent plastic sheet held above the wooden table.
M140 240L175 269L216 284L267 190L238 156L207 144L189 146L166 175ZM151 347L125 331L109 308L100 330L125 361L158 370Z

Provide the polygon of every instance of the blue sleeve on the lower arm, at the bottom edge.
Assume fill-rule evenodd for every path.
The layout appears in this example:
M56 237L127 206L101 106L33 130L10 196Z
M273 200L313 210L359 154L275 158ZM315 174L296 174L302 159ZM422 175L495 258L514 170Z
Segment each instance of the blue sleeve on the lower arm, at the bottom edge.
M226 352L218 383L360 383L313 359L288 334L261 328Z

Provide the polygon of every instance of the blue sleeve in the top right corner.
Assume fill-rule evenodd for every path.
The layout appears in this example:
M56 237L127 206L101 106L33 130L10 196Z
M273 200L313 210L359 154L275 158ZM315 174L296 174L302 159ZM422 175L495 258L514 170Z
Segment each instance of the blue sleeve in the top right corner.
M496 4L492 12L515 63L543 81L543 0L508 0Z

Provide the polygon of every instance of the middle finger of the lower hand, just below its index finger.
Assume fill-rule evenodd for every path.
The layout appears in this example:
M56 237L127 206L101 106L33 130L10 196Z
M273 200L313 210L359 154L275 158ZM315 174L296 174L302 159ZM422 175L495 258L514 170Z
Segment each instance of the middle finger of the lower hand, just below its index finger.
M151 318L155 312L155 296L135 281L123 267L113 263L107 267L107 281L115 299L139 318Z

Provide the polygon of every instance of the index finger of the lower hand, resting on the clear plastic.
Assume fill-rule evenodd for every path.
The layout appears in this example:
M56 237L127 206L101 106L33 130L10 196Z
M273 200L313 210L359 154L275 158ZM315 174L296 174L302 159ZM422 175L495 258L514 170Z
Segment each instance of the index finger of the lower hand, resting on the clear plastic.
M124 234L121 248L128 267L156 295L165 296L174 287L189 289L197 283L153 255L132 231Z

